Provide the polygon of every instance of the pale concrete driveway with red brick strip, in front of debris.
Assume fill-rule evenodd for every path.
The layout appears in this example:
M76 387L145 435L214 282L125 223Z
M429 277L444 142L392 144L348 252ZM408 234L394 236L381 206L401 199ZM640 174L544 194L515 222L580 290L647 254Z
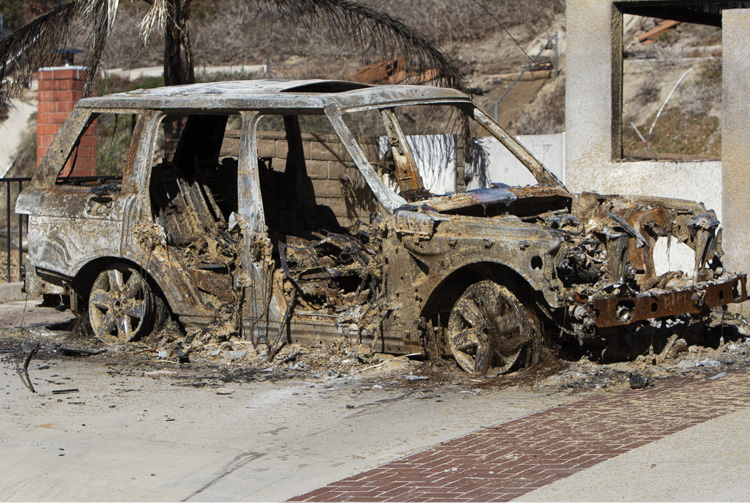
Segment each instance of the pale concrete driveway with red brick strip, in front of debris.
M409 376L226 382L114 351L39 357L69 313L0 305L8 501L747 500L750 372L542 393ZM24 330L17 327L23 324ZM29 335L30 334L30 335ZM429 497L428 497L429 496Z

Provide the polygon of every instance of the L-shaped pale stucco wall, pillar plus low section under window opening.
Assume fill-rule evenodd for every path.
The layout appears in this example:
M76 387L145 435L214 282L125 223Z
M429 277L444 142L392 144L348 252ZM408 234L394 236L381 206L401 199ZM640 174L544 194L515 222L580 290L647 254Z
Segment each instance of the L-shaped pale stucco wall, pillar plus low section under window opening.
M723 217L721 162L621 160L622 14L613 2L568 0L567 32L568 187L691 199Z

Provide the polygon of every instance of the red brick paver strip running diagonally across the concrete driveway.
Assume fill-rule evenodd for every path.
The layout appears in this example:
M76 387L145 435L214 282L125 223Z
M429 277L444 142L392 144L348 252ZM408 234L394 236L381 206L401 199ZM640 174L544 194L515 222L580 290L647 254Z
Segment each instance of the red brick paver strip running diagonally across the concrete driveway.
M750 372L669 379L485 428L292 501L509 501L709 419L750 407Z

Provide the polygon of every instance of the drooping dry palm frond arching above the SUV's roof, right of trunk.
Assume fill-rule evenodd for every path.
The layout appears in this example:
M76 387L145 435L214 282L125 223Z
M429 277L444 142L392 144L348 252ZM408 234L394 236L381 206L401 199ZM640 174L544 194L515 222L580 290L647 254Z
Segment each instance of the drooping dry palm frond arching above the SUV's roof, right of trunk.
M351 0L261 0L308 29L326 30L338 43L355 45L363 53L384 58L403 56L409 70L438 72L438 83L466 91L461 73L434 45L415 30L384 12Z

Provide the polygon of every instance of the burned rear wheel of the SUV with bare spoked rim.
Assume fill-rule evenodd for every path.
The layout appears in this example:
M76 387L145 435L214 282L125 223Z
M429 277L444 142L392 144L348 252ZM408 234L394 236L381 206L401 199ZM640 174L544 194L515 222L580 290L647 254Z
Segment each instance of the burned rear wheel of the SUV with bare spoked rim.
M91 285L89 323L97 339L125 343L147 335L154 323L154 294L131 266L104 269Z

